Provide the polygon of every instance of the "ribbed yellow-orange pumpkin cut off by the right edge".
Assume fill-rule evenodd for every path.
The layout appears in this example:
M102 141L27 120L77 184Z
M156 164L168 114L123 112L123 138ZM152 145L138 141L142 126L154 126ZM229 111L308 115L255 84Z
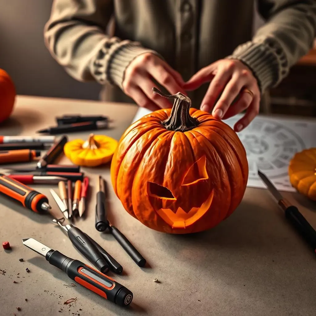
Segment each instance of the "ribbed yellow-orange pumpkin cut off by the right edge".
M294 155L289 164L289 177L297 191L316 201L316 148Z

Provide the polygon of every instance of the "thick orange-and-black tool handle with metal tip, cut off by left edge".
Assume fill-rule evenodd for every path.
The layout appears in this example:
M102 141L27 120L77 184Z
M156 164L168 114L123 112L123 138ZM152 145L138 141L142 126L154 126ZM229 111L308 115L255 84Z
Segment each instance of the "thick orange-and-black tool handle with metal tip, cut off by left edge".
M2 173L0 173L0 193L37 213L44 213L48 207L50 208L44 194Z

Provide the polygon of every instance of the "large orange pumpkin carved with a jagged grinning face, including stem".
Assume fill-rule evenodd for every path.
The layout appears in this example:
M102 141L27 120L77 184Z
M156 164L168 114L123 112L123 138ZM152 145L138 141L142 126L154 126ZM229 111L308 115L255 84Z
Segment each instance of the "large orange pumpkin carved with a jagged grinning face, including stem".
M149 228L172 234L204 231L231 215L248 179L246 151L224 122L191 107L182 93L133 123L111 163L125 210Z

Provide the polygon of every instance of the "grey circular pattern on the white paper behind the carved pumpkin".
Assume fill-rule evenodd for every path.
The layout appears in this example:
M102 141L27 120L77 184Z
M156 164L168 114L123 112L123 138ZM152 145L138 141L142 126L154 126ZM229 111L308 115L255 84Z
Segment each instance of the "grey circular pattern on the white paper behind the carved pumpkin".
M238 119L225 123L233 127ZM289 161L306 147L294 131L271 120L256 118L238 136L246 149L249 179L258 179L258 169L271 179L287 176Z

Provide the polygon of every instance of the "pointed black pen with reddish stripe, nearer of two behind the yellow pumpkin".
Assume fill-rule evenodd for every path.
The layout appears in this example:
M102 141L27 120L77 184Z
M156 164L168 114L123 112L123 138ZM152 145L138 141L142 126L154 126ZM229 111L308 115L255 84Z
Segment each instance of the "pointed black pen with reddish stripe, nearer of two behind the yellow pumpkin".
M61 134L70 132L81 132L81 131L94 131L99 129L107 129L108 121L97 121L97 122L80 122L67 125L59 125L54 127L49 127L44 130L37 131L38 133L47 134Z

